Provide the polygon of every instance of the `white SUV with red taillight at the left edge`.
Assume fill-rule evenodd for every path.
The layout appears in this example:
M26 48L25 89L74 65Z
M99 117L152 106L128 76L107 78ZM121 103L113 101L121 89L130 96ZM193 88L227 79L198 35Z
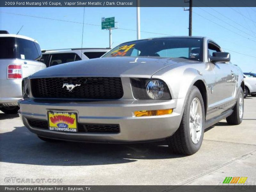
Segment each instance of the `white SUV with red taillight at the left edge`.
M4 34L3 34L4 33ZM0 34L0 110L6 114L15 114L19 107L17 101L22 98L21 82L41 69L45 64L39 62L42 57L38 42L30 37Z

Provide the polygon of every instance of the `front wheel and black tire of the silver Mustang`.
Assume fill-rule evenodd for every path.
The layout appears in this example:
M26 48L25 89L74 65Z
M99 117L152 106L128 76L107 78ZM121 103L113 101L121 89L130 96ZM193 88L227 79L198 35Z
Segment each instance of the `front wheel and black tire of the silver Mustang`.
M196 86L192 87L188 95L189 97L187 98L187 101L185 103L185 108L180 122L180 127L171 137L166 139L169 145L169 149L171 150L172 153L192 155L200 149L203 142L205 123L204 101L199 89ZM192 119L190 116L190 112L193 111L192 101L193 103L194 101L197 102L197 109L199 110L197 114L201 114L201 120L199 120L200 126L198 126L200 127L199 129L201 129L200 131L197 131L196 129L193 128L194 123L196 124L198 119L196 119L195 116L195 118ZM200 103L201 108L198 103ZM192 126L191 129L190 125ZM190 132L191 130L192 132ZM192 134L198 135L196 141L193 141Z

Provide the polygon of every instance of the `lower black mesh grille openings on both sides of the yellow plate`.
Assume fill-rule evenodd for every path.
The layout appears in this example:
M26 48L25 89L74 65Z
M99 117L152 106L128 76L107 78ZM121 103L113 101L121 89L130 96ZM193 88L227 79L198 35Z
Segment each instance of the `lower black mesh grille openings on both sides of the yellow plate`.
M31 127L38 129L48 129L48 122L36 119L27 119ZM78 123L78 132L84 133L119 133L118 124L83 124Z

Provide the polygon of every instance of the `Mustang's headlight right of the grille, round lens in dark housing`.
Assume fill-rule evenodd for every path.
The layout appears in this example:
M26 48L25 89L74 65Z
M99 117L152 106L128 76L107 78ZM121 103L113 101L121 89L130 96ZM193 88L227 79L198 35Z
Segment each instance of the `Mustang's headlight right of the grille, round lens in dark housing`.
M168 86L160 79L131 78L136 99L171 99Z

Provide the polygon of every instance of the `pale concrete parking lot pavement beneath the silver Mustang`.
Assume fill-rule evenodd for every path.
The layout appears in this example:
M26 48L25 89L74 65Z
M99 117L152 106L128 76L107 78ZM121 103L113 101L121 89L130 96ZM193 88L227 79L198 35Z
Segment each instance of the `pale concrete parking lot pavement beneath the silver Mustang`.
M244 100L242 124L226 120L205 130L192 156L170 154L165 142L47 143L18 115L0 113L1 185L219 185L225 177L256 180L256 97ZM4 178L62 179L62 183L6 183Z

